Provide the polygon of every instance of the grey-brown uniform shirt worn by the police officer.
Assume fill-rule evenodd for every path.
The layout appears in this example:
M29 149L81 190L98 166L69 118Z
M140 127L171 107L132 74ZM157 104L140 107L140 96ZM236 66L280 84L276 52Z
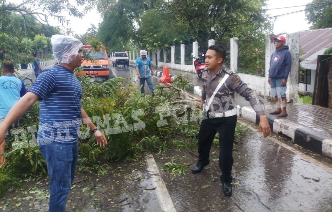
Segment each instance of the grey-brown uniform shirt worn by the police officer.
M235 92L237 92L239 95L250 102L250 105L254 108L258 116L263 115L264 107L260 103L258 95L253 92L253 90L250 89L236 73L232 72L225 66L222 66L219 72L217 72L215 75L213 75L210 70L203 71L203 89L201 98L205 100L204 106L207 105L214 90L226 73L230 76L228 76L225 83L217 91L209 107L209 111L212 111L212 113L221 113L236 108L234 95Z

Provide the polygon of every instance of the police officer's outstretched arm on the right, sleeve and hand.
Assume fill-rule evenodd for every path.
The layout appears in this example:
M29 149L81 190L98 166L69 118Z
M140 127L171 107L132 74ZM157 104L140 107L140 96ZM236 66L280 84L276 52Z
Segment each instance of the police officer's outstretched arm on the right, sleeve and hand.
M237 74L232 74L229 76L227 81L227 87L231 92L236 91L239 95L250 102L250 105L254 108L260 119L259 131L260 133L263 132L263 136L266 138L270 134L271 128L265 116L264 107L260 103L257 94L251 88L249 88L247 84L243 83Z

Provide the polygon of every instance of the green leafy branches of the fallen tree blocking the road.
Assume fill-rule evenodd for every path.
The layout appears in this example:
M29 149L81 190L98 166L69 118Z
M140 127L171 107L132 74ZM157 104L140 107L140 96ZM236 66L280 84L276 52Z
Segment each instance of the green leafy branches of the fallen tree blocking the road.
M139 90L131 85L123 85L122 78L110 79L103 83L91 83L88 77L77 78L83 88L82 107L89 117L92 117L96 126L104 133L110 133L109 130L113 127L120 130L115 133L116 128L113 128L112 134L105 133L108 140L105 148L96 145L94 136L79 139L79 171L105 174L106 164L111 161L134 157L143 149L167 151L172 144L172 136L183 133L193 137L198 132L197 124L177 124L172 115L163 118L167 120L168 125L157 126L160 116L155 112L155 108L169 107L169 98L179 97L175 90L158 85L156 94L159 95L152 98L149 95L138 94ZM186 88L188 84L188 80L183 78L178 86L182 89L181 85ZM141 125L137 124L139 120ZM37 102L21 119L21 127L27 130L31 125L38 126L38 123ZM86 127L81 127L81 132L84 131L87 131ZM32 133L26 133L22 137L31 140ZM0 195L4 193L8 182L20 186L18 178L46 173L45 161L37 146L30 146L26 141L17 142L11 135L7 138L6 151L7 162L0 169Z

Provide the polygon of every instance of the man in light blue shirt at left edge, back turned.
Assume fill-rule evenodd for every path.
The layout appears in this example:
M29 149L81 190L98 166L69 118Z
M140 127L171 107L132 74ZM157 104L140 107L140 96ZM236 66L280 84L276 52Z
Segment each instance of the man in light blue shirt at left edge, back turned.
M0 124L5 119L8 111L13 105L26 93L22 80L14 76L14 65L11 61L2 64L2 77L0 77ZM12 127L18 127L19 121L16 121ZM8 130L5 135L8 135ZM2 157L5 152L5 142L0 144L0 168L5 163L6 158Z

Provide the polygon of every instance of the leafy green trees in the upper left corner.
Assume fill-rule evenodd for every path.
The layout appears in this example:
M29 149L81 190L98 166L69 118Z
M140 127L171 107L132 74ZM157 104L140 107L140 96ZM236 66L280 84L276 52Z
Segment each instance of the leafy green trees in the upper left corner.
M14 64L30 63L32 52L39 52L47 57L50 52L49 37L60 34L56 27L48 25L50 17L61 24L68 21L62 12L82 17L84 12L93 7L94 0L76 0L72 5L69 0L25 0L14 4L3 0L0 4L0 49L5 51L5 60ZM85 6L84 11L78 11L77 6Z

